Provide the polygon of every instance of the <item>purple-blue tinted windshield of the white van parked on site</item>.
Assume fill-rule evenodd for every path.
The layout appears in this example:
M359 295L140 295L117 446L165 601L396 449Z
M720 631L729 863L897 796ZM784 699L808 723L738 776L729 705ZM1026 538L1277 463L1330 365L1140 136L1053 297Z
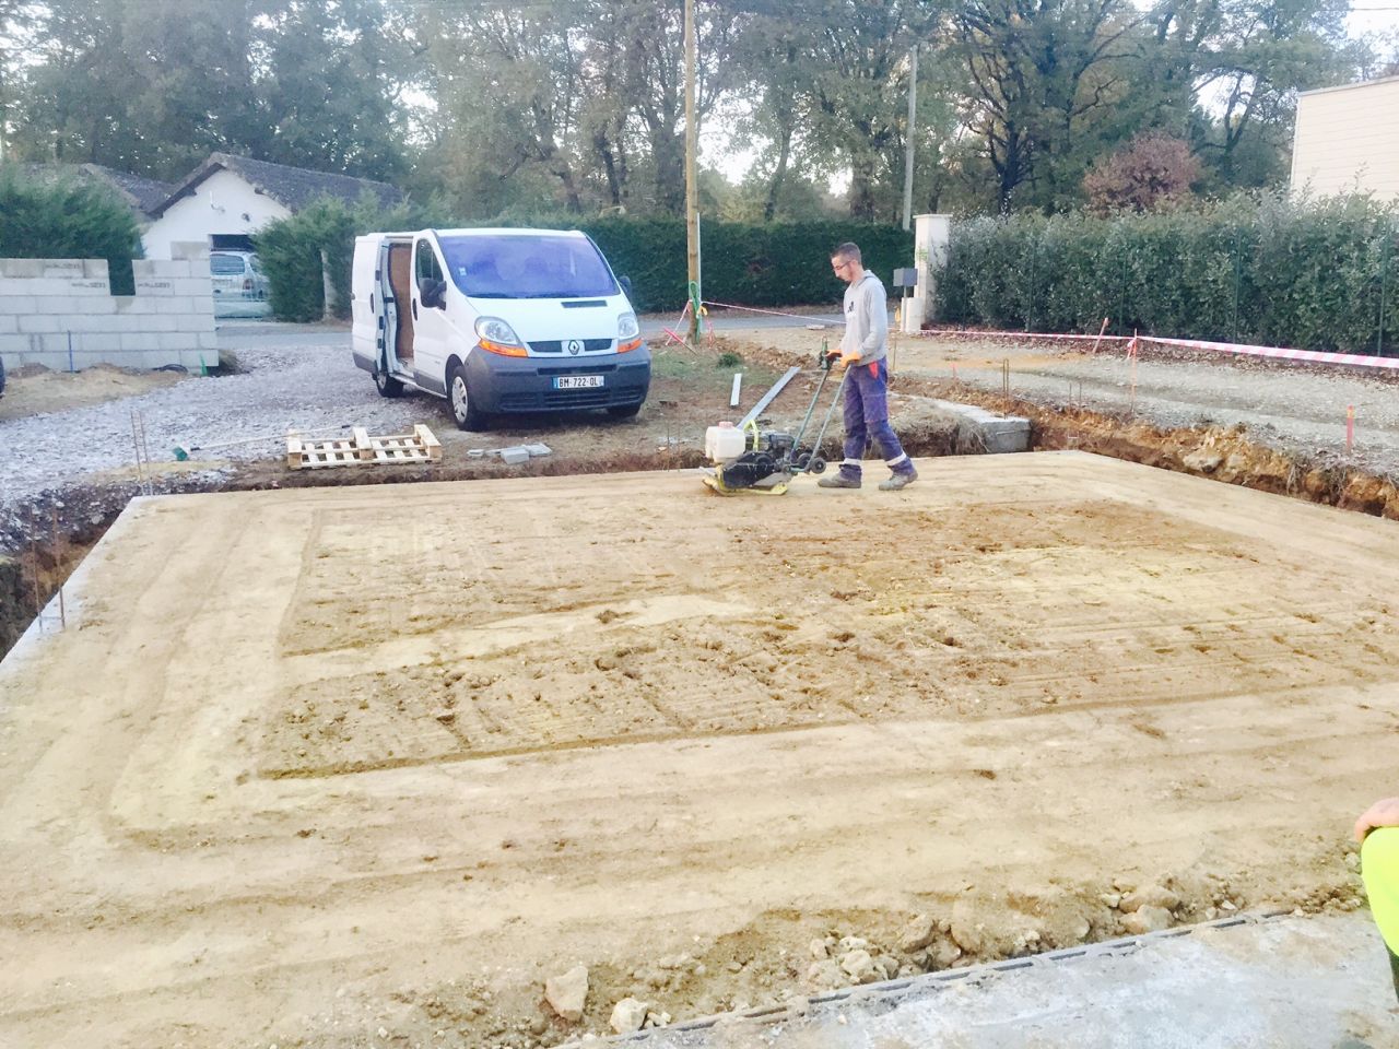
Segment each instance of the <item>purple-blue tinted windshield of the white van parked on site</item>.
M443 236L456 287L477 299L579 299L617 294L607 263L583 236Z

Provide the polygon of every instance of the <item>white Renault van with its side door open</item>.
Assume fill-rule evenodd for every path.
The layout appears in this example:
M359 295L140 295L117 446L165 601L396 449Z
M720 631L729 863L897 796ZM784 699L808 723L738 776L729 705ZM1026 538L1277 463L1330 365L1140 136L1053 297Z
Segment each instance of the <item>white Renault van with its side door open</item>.
M522 411L635 415L651 350L624 287L578 231L369 234L354 248L354 362L385 397L446 397L462 429Z

